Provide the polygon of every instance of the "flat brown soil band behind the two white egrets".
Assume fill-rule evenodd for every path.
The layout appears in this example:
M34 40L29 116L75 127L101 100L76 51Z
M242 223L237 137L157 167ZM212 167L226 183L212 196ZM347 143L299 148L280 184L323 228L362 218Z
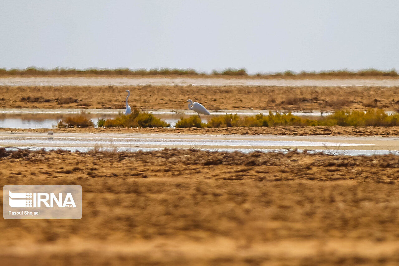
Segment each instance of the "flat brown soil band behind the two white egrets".
M370 107L397 110L399 87L0 87L1 108L115 108L129 105L140 109L186 109L187 99L209 110L278 109L366 110Z

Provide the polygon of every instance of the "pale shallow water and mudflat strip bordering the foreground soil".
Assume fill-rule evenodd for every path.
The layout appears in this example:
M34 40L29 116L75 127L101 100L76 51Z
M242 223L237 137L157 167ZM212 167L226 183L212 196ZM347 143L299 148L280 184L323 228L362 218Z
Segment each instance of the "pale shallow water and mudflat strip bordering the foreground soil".
M273 151L297 148L348 155L387 154L399 150L398 137L184 135L130 133L0 133L0 147L151 151L164 148L208 151Z

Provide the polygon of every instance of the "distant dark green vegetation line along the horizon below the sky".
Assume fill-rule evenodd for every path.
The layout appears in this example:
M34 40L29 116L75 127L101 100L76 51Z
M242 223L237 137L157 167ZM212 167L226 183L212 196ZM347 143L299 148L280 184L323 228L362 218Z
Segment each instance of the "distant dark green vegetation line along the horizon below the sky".
M249 74L245 68L234 69L227 68L222 71L213 70L211 73L199 72L194 69L171 69L171 68L154 68L154 69L75 69L75 68L53 68L44 69L37 67L28 67L26 69L6 69L0 68L0 76L8 75L26 75L26 76L45 76L45 75L199 75L199 76L251 76L251 77L397 77L399 74L395 69L391 70L377 70L377 69L361 69L358 71L350 71L347 69L342 70L329 70L329 71L284 71L275 73L257 73Z

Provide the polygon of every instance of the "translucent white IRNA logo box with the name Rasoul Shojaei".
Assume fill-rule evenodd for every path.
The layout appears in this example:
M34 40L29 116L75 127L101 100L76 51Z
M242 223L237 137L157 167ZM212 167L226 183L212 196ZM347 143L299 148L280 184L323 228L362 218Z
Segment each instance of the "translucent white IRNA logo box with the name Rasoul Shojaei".
M4 219L80 219L80 185L5 185Z

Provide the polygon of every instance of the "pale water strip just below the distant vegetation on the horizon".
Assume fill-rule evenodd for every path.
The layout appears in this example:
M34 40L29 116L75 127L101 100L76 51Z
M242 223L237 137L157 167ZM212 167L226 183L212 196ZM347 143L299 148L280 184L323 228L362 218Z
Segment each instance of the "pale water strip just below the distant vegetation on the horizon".
M259 79L192 77L1 77L0 86L399 86L399 79Z

